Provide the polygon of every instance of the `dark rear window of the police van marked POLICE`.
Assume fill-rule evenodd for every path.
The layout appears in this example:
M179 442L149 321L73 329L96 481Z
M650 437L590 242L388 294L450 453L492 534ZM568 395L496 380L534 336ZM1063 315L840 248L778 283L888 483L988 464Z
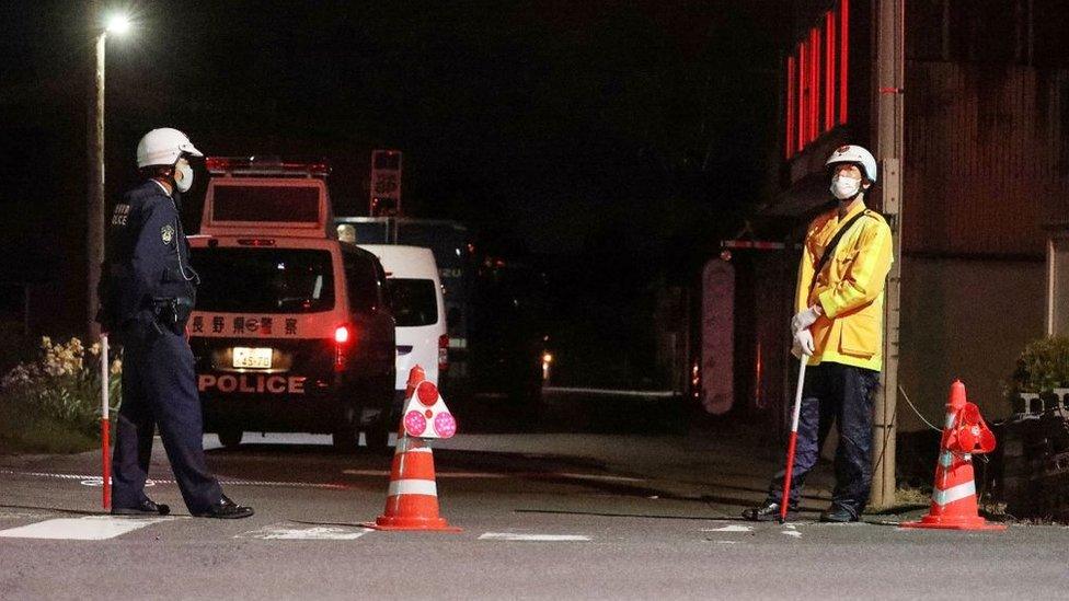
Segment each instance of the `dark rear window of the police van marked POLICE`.
M300 249L193 249L198 311L314 313L334 309L331 253Z

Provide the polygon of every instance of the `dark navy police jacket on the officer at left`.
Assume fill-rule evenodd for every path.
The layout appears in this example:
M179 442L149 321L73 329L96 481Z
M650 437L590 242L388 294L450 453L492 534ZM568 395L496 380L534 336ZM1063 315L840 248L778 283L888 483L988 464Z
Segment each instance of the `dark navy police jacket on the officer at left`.
M159 183L148 180L115 206L108 221L97 320L105 331L120 331L146 311L159 315L166 301L181 299L192 310L198 279L189 265L179 203L176 190L172 198Z

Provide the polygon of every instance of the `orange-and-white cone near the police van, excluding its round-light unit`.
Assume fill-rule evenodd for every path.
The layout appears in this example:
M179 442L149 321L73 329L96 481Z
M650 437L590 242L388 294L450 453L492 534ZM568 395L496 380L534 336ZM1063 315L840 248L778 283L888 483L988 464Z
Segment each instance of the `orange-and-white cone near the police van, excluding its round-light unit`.
M411 398L424 381L423 369L412 368L406 396ZM403 421L390 470L386 510L375 522L364 525L375 530L460 532L438 515L438 485L430 447L425 440L405 434Z

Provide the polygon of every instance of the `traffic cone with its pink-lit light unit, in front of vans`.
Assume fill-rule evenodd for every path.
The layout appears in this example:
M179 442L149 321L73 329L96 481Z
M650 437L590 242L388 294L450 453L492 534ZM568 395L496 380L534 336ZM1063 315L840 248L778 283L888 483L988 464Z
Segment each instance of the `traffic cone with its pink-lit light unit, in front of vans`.
M450 438L457 432L457 423L446 408L438 388L424 378L418 366L409 374L407 398L390 470L386 510L373 523L364 524L368 528L460 532L438 515L434 455L424 440Z

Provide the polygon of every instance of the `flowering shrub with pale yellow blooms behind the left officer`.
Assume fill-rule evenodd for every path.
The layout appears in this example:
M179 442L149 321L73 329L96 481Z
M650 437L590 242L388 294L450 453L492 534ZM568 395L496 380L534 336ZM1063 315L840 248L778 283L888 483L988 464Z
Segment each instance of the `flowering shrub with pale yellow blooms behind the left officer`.
M23 428L50 423L95 438L100 420L100 345L85 349L78 338L53 344L43 337L36 355L35 360L19 363L0 380L4 413L18 416ZM119 359L108 368L113 411L122 401L122 369Z

